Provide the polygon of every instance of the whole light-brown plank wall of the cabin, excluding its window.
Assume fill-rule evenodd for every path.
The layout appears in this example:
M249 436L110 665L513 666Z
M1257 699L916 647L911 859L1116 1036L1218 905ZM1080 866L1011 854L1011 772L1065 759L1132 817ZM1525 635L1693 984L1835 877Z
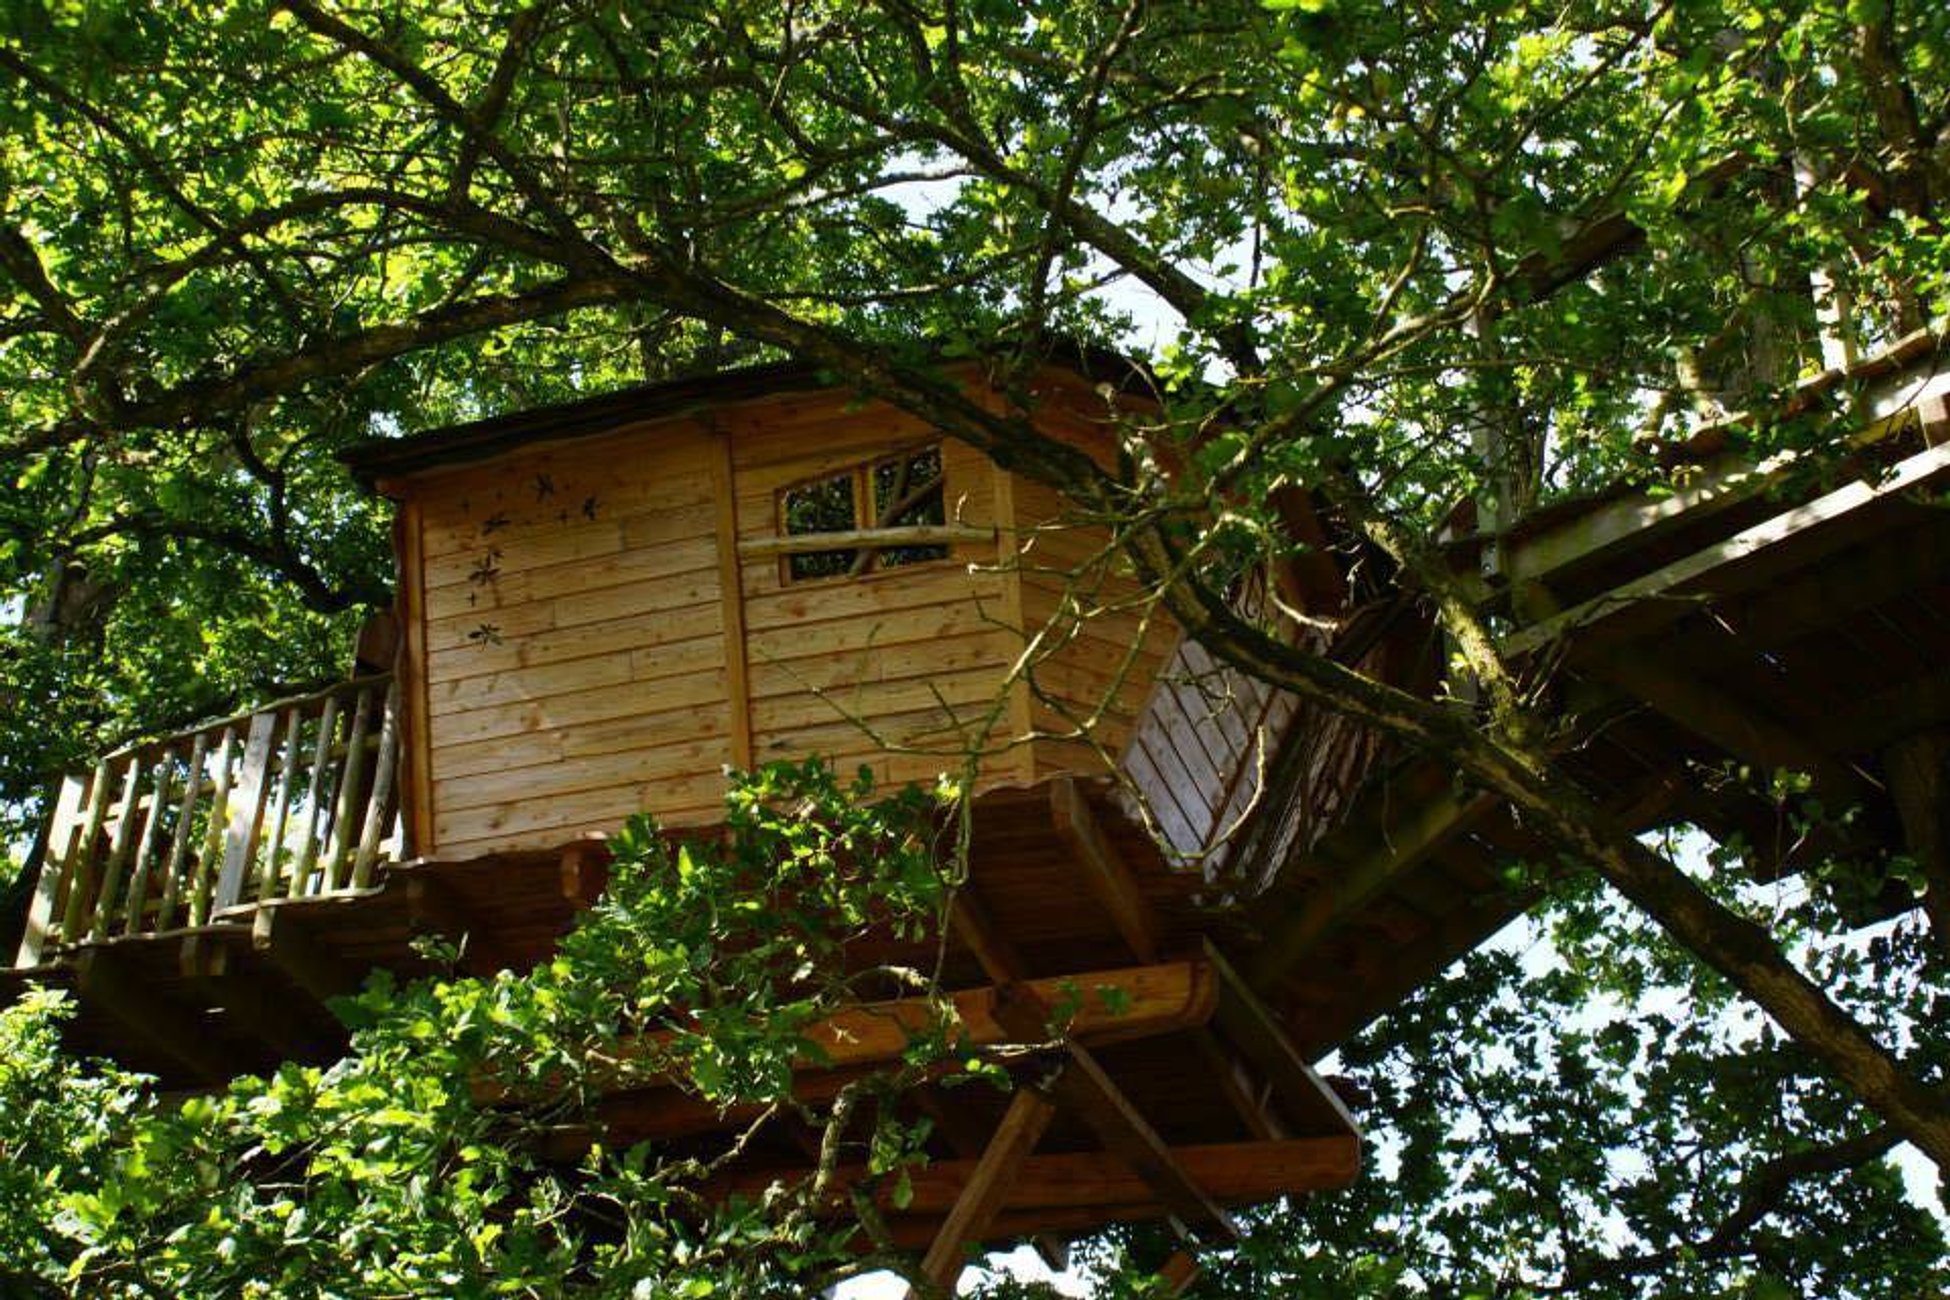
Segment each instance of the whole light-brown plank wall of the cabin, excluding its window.
M1074 411L1051 417L1108 454ZM994 542L800 581L774 554L727 554L729 538L782 532L784 489L930 444L948 522L994 528ZM840 394L544 442L427 472L406 495L402 540L419 550L408 643L423 647L423 670L406 674L410 743L429 856L546 848L640 809L712 822L723 766L747 756L817 752L883 785L959 772L969 752L983 785L1102 774L1178 641L1135 600L1102 528L1057 493ZM1035 635L1034 686L1006 688ZM1063 739L1082 719L1100 748ZM1178 727L1207 721L1186 706ZM1030 729L1043 739L1022 743ZM1162 739L1141 762L1158 770L1147 780L1182 780L1162 772ZM1225 782L1201 780L1223 805Z

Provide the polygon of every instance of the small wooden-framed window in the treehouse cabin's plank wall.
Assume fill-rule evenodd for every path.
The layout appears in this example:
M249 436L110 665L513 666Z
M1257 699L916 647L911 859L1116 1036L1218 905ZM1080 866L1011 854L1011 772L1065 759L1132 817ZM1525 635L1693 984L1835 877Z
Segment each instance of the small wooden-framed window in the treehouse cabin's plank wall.
M948 522L948 505L942 493L942 448L922 446L833 478L788 487L778 495L778 507L780 532L788 538L942 526ZM858 577L874 569L895 569L930 559L948 559L948 546L903 542L899 546L792 552L786 555L786 581Z

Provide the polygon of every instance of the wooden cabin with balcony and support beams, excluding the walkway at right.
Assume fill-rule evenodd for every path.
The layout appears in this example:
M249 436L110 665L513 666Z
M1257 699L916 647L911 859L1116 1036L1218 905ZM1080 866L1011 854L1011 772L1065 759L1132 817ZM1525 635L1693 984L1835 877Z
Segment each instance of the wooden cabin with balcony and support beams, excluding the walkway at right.
M1049 368L1034 419L1110 462L1127 378ZM944 976L977 1041L1039 1037L1026 1008L1067 986L1123 994L1071 1027L1049 1095L916 1101L940 1150L895 1228L936 1245L932 1273L983 1238L1129 1218L1223 1238L1228 1206L1353 1177L1347 1109L1213 945L1221 834L1291 704L1184 643L1104 526L801 366L349 460L398 503L392 672L62 789L18 967L76 986L88 1047L189 1086L328 1054L324 1004L415 969L415 932L480 973L532 965L626 817L708 828L727 766L819 754L973 791ZM891 957L928 953L862 961ZM901 1047L842 1037L854 1070ZM612 1142L708 1148L725 1123L677 1088L604 1101ZM759 1142L729 1185L803 1166Z

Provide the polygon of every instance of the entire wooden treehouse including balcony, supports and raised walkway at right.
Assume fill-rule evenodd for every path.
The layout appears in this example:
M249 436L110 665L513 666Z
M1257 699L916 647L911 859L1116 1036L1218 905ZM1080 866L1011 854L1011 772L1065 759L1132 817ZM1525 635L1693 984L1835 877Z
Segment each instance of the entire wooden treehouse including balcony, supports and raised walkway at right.
M1051 366L1016 400L1108 460L1112 415L1143 403L1127 380ZM1919 335L1794 401L1845 388L1808 454L1759 458L1730 425L1673 452L1677 491L1449 540L1548 678L1564 770L1620 828L1700 824L1761 877L1946 852L1950 374ZM419 969L419 932L482 973L542 959L603 887L603 836L640 809L708 834L725 764L967 774L942 971L969 1037L1047 1033L1034 1012L1065 986L1117 996L1067 1023L1047 1090L916 1095L934 1164L897 1240L942 1281L973 1242L1117 1220L1225 1240L1230 1206L1355 1175L1308 1062L1529 906L1540 875L1511 863L1554 863L1439 756L1217 665L1100 520L800 366L382 440L351 468L398 503L390 672L111 754L53 807L12 978L72 986L80 1047L174 1086L333 1051L328 1000ZM1363 587L1373 569L1318 548L1240 600L1277 594L1332 628L1306 633L1320 653L1451 688L1425 610ZM1774 770L1854 815L1790 822L1755 780ZM829 1025L844 1051L803 1095L899 1054L905 1013ZM610 1095L603 1121L700 1150L725 1127L677 1088ZM757 1142L727 1187L805 1169Z

